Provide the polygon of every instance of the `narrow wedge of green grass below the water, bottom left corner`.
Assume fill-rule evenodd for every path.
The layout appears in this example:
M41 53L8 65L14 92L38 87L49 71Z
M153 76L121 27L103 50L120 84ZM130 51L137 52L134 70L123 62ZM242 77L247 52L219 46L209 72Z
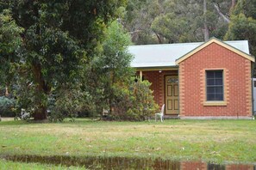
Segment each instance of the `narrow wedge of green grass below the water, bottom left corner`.
M84 167L64 167L64 166L54 166L54 165L46 165L40 163L23 163L23 162L13 162L13 161L4 161L0 160L0 169L12 169L12 170L22 170L22 169L84 169Z

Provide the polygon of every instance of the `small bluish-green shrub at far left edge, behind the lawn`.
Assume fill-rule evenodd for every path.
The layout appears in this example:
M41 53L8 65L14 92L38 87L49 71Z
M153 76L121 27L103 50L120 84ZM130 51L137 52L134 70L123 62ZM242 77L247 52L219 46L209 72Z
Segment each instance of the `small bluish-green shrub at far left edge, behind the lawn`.
M0 96L0 116L11 117L15 116L14 107L16 106L16 100L9 99L5 96Z

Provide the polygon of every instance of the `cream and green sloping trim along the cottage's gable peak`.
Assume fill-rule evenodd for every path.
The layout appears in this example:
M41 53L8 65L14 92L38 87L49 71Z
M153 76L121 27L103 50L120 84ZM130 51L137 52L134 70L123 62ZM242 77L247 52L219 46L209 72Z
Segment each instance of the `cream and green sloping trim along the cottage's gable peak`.
M206 41L205 43L203 43L201 46L197 46L197 48L193 49L192 51L184 54L184 56L182 56L181 58L178 58L175 62L175 64L180 64L181 62L183 62L185 59L190 58L190 56L192 56L193 54L201 51L204 47L211 45L212 43L215 43L219 46L222 46L234 53L239 54L241 57L243 58L247 58L248 60L255 62L255 58L253 58L253 56L247 54L246 52L242 52L239 49L235 48L234 46L229 46L227 43L223 42L220 39L216 39L216 38L212 38L209 39L208 41Z

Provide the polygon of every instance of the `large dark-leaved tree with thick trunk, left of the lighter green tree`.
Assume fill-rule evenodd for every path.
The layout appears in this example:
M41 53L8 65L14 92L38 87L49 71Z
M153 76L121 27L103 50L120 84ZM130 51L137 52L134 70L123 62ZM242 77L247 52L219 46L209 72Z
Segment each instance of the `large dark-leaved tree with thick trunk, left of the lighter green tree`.
M16 64L22 67L22 73L26 72L22 86L33 94L27 96L32 97L34 119L47 118L47 98L53 88L78 80L78 72L90 61L105 23L115 17L123 3L1 1L0 12L9 9L14 24L23 30L22 52Z

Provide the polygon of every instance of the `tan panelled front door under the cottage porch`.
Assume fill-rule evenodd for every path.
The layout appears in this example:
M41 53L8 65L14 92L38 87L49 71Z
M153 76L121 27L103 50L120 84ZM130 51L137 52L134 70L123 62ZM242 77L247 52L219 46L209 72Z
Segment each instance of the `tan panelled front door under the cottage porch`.
M178 76L165 76L165 114L178 114Z

